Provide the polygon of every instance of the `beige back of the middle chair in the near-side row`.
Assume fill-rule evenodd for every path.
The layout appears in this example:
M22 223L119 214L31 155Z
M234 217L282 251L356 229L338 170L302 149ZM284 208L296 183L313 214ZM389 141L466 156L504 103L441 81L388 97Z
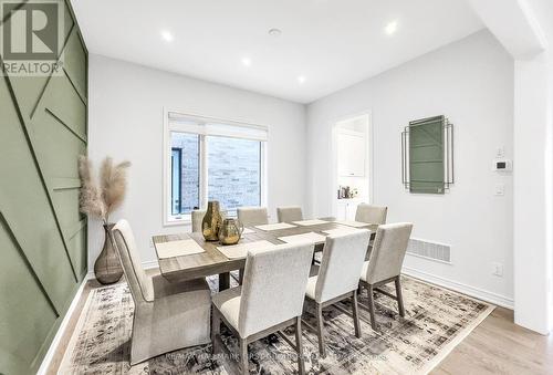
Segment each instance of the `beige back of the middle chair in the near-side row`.
M366 229L326 237L316 278L316 302L326 302L357 289L369 239L371 232Z

